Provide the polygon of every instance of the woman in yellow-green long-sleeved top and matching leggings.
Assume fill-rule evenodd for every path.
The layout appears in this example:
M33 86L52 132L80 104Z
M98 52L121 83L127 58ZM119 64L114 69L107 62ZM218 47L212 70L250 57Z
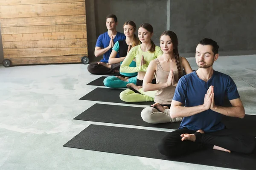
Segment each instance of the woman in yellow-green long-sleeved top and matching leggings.
M135 73L138 72L136 85L133 83L127 84L128 88L134 88L140 94L128 89L120 93L120 99L125 102L152 102L154 101L154 94L156 91L144 92L142 88L143 78L151 60L161 56L163 52L161 48L156 46L151 40L153 36L153 27L148 23L140 25L138 30L138 37L141 41L140 45L131 48L125 60L122 62L120 72ZM131 62L135 59L136 67L129 67ZM156 84L156 79L152 80Z

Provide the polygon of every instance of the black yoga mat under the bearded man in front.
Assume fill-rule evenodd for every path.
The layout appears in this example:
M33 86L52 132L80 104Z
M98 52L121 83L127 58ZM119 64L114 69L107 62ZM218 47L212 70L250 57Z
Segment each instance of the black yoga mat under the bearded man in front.
M157 150L157 143L167 134L168 132L155 130L90 125L63 146L240 170L255 169L255 153L245 155L201 150L170 159Z

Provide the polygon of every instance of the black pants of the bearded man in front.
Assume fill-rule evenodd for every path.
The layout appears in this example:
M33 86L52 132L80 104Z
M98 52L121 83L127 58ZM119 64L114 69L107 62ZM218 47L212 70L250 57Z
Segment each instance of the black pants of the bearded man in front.
M235 130L224 129L211 133L195 133L195 142L181 141L182 133L195 133L193 130L175 130L165 136L159 143L160 153L166 156L181 156L197 150L212 149L213 146L223 147L231 152L252 153L255 147L255 138L239 134Z

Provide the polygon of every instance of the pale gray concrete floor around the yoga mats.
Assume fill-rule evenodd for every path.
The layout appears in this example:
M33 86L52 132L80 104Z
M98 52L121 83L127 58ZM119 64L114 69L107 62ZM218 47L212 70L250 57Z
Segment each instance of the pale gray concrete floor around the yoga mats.
M188 58L193 69L195 59ZM219 57L216 71L236 82L246 114L256 115L256 55ZM90 124L73 120L96 102L79 100L97 86L87 65L0 66L1 170L221 170L224 168L63 147ZM101 102L105 103L105 102ZM128 105L116 104L114 105ZM135 106L135 105L132 105ZM137 107L143 107L138 106ZM172 131L172 130L165 130Z

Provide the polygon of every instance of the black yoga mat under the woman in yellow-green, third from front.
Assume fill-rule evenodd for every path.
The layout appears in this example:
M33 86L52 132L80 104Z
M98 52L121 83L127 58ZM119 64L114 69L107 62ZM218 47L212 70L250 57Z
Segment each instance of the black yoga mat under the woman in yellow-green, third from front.
M124 91L123 89L114 88L96 88L85 96L81 97L79 100L92 100L98 102L113 102L113 103L129 103L124 102L120 99L119 94ZM138 102L129 103L136 105L152 105L154 102Z

